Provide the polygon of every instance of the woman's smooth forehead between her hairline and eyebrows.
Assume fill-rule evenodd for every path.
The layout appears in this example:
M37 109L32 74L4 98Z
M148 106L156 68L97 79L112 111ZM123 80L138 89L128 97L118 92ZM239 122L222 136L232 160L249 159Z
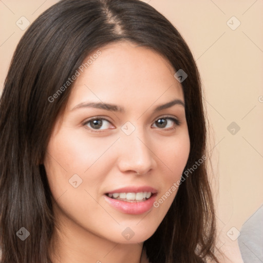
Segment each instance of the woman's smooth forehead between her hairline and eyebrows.
M93 55L98 50L100 55ZM183 100L174 68L158 52L130 42L109 44L98 50L84 60L89 64L74 81L69 107L87 100L134 106Z

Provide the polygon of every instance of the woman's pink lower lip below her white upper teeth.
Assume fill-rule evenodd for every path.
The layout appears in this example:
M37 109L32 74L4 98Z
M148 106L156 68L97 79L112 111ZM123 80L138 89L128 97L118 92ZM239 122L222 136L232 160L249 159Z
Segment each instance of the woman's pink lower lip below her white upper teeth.
M141 202L125 202L121 200L112 199L107 195L104 196L105 196L105 200L117 210L125 214L133 214L133 215L139 215L149 211L153 207L156 199L156 194L152 195L146 201L141 201Z

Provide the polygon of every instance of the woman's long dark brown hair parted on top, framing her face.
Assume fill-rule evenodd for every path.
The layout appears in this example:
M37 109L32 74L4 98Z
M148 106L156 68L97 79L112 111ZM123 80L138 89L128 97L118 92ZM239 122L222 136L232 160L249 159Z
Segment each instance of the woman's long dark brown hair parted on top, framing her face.
M64 0L41 14L15 50L0 101L0 247L2 263L50 263L54 229L51 192L40 165L54 122L67 103L67 82L88 54L130 41L156 50L187 78L181 83L190 136L185 172L206 156L198 69L182 36L138 0ZM22 227L30 236L22 241ZM206 262L214 254L215 215L205 164L181 183L153 236L144 242L152 263Z

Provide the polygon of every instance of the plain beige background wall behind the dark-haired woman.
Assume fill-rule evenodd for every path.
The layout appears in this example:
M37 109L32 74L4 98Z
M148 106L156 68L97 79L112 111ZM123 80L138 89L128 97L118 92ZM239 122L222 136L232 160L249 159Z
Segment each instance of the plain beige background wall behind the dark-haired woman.
M57 2L0 1L1 89L14 49L25 32L16 21L25 16L32 23ZM144 2L177 27L197 61L214 134L210 153L220 233L218 246L228 254L226 262L242 262L237 241L232 241L227 232L232 227L240 230L263 203L263 1ZM240 127L238 132L234 126L229 128L234 135L227 129L232 122Z

